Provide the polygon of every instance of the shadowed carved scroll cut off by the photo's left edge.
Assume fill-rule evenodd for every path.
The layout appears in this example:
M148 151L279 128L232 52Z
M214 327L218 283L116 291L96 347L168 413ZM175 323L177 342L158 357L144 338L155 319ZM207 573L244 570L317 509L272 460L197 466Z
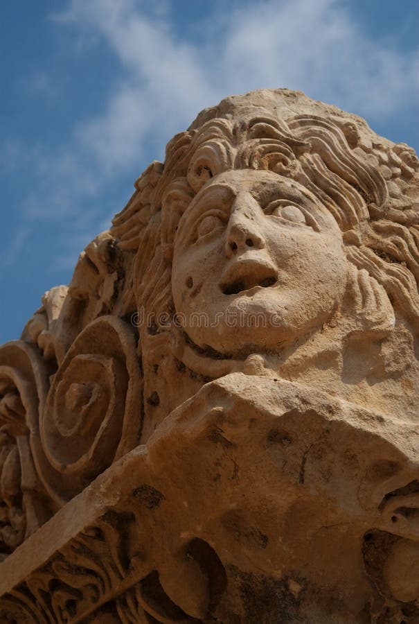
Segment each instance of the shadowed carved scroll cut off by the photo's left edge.
M0 557L51 515L29 447L29 428L44 405L49 372L37 349L23 340L0 349Z

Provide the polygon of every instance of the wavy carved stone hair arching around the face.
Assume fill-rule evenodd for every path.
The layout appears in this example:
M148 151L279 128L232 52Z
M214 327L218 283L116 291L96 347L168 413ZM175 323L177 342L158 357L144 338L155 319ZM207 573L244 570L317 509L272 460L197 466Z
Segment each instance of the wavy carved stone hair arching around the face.
M419 162L406 144L374 135L361 120L295 114L285 122L269 107L204 112L136 182L114 219L121 249L136 252L136 307L174 313L172 247L179 219L206 181L237 168L269 169L303 184L339 225L348 259L386 291L393 307L419 323ZM237 110L237 107L236 107ZM333 112L333 111L332 111ZM208 119L209 117L209 119ZM354 121L355 120L355 121ZM364 122L362 122L364 123ZM362 128L361 128L362 130Z

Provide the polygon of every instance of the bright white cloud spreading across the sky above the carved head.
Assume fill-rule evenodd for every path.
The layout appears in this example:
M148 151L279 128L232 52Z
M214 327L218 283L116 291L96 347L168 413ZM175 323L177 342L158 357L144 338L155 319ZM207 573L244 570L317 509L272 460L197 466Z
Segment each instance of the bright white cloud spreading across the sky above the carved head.
M163 5L164 6L164 5ZM338 0L258 1L219 19L202 42L179 41L134 0L71 0L55 17L102 37L125 69L105 110L76 137L105 171L166 142L222 96L286 86L361 114L391 114L418 89L418 60L368 40Z

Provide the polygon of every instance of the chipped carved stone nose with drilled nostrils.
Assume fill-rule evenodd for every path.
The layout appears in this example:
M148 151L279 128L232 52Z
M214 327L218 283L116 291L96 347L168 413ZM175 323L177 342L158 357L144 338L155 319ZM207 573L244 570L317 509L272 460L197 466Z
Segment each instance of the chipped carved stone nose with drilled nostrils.
M227 256L252 247L265 247L265 239L258 225L260 212L258 202L249 193L240 193L235 198L226 232Z

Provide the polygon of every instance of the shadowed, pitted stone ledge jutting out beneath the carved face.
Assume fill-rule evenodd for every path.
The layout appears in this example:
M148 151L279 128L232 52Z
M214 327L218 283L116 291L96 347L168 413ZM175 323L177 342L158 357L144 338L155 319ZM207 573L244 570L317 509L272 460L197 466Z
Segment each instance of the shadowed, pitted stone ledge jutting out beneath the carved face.
M207 383L9 557L0 615L414 621L418 436L290 381Z

